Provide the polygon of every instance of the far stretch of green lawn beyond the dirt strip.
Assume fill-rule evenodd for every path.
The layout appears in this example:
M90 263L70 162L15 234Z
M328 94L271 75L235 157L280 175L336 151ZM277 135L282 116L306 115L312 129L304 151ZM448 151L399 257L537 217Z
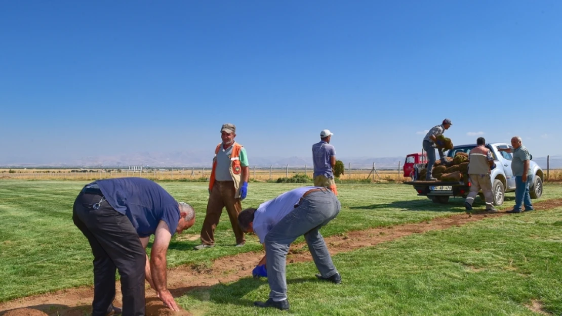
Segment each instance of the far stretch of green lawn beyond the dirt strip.
M0 301L92 284L92 254L87 240L71 219L72 203L84 184L81 181L0 181L0 221L3 223L0 226ZM175 236L171 242L169 267L206 264L225 255L261 249L256 237L252 235L248 236L247 246L233 247L234 235L228 216L223 213L216 231L217 246L205 251L193 251L193 246L200 243L198 235L205 217L207 184L161 182L161 185L176 199L192 204L197 211L196 225L183 235ZM252 183L243 207L257 207L262 201L298 186L300 185ZM416 196L413 188L407 185L341 184L338 190L342 212L330 225L323 228L324 236L371 227L423 222L434 217L464 212L462 199L452 199L448 204L434 204L427 198ZM549 198L562 198L562 186L545 186L543 199ZM482 203L476 206L483 207ZM511 206L513 193L507 195L504 208ZM428 234L423 236L426 235ZM409 253L413 251L419 249L410 249ZM364 255L363 251L356 253ZM376 257L367 258L374 264ZM375 270L378 269L378 265L375 264L374 267ZM306 274L312 275L308 272ZM250 281L252 280L240 282ZM303 284L306 283L309 283L308 280ZM248 284L255 287L253 282ZM266 295L262 294L260 292L255 299L265 299ZM325 297L325 300L336 301L330 296Z

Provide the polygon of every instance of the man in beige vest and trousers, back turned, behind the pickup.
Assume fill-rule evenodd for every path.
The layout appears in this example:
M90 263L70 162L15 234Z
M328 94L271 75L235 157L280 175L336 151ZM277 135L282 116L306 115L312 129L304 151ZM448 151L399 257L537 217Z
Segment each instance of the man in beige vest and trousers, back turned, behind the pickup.
M478 146L470 150L468 156L468 175L470 177L470 193L464 201L466 210L472 210L474 198L478 195L478 191L482 189L484 199L486 199L486 210L488 212L497 212L493 207L492 180L490 180L490 168L493 166L493 157L490 149L486 148L486 140L479 137L476 140Z

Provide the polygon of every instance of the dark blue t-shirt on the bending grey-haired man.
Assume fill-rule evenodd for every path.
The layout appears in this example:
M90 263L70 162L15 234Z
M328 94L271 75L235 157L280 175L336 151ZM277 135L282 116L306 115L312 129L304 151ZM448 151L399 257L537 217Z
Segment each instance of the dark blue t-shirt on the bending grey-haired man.
M156 182L144 178L98 180L99 189L117 212L125 214L139 237L155 233L160 221L174 235L178 228L178 202Z

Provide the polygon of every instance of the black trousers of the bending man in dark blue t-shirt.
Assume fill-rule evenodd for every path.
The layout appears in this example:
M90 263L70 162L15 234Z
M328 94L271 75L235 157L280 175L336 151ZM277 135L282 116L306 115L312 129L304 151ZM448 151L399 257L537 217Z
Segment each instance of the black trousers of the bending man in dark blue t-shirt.
M94 255L92 316L105 316L115 299L115 272L121 276L123 316L144 315L146 252L129 218L103 201L101 193L82 191L74 201L72 219L90 242Z

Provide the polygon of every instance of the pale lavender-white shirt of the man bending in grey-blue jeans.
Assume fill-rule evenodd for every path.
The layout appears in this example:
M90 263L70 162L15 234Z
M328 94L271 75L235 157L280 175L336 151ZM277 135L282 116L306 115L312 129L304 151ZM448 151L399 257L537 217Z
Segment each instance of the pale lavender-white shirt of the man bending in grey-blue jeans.
M265 236L283 217L291 213L294 205L302 198L306 191L316 189L315 186L303 186L285 192L273 200L261 203L253 215L253 232L263 244Z

